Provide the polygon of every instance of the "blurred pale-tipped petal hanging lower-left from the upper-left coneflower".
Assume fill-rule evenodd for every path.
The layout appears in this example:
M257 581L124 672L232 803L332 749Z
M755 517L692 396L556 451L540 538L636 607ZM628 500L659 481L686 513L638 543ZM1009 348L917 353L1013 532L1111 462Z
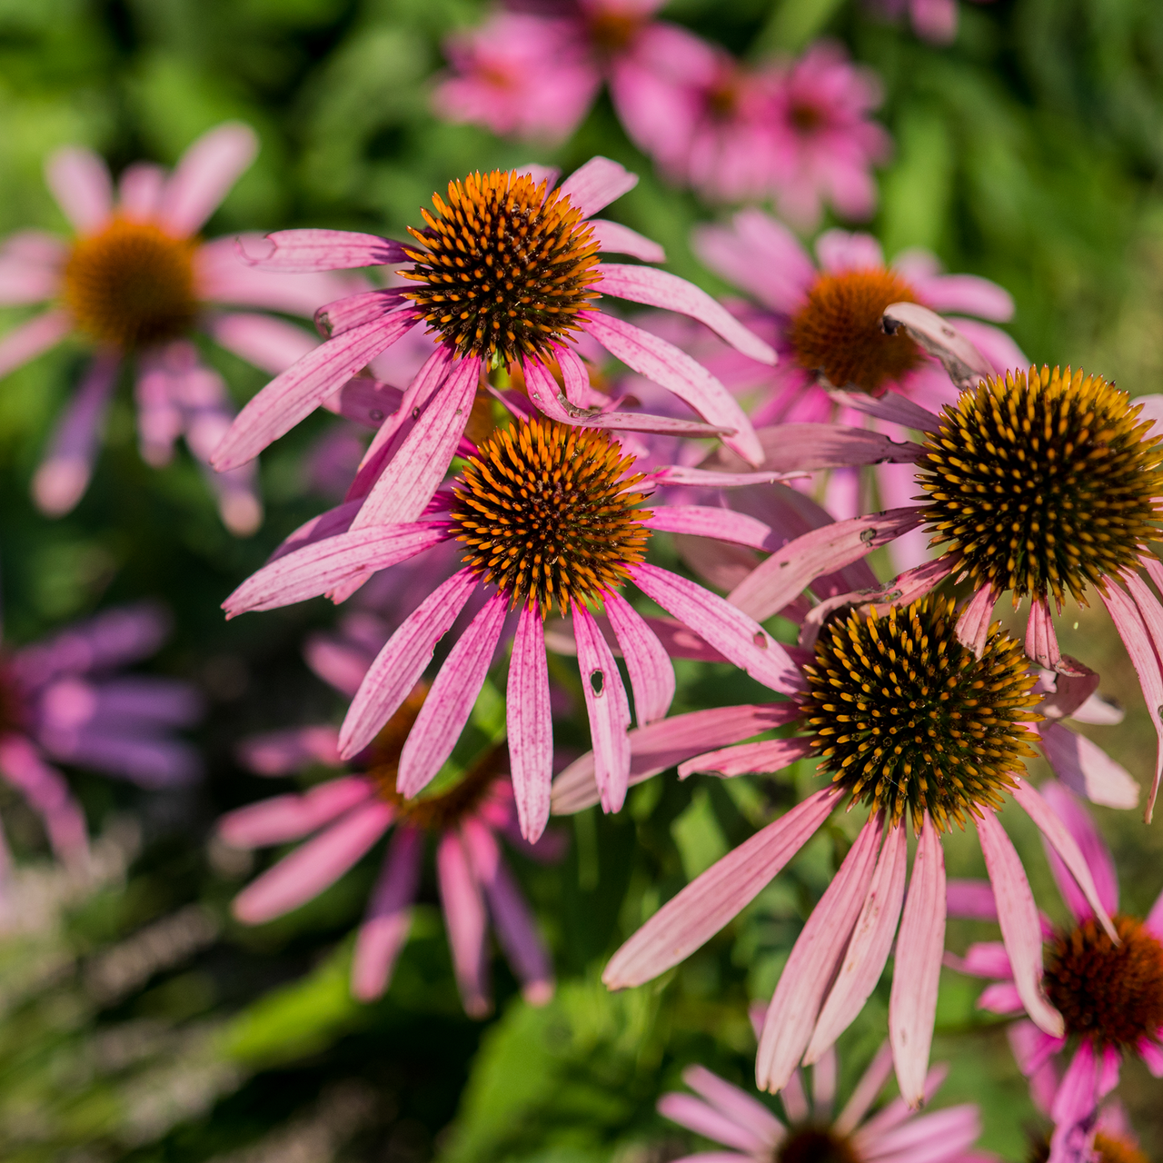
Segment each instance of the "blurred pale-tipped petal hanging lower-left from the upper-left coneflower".
M42 513L60 516L85 494L120 368L119 352L99 351L57 421L44 459L33 477L33 499Z

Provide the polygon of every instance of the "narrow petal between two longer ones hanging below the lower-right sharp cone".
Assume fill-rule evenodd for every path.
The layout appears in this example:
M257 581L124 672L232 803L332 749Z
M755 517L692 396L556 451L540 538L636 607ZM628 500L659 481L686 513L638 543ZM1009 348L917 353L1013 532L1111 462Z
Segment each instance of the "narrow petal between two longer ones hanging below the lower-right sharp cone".
M884 847L877 859L876 871L869 885L868 896L856 919L851 941L844 952L843 964L812 1033L804 1062L816 1062L833 1047L836 1039L848 1029L856 1015L864 1008L892 948L897 933L897 921L905 900L905 873L907 870L907 843L904 825L890 827ZM913 872L916 883L916 872ZM909 889L909 897L915 889ZM904 937L904 934L902 934ZM898 972L900 971L898 950ZM896 982L896 973L893 975Z

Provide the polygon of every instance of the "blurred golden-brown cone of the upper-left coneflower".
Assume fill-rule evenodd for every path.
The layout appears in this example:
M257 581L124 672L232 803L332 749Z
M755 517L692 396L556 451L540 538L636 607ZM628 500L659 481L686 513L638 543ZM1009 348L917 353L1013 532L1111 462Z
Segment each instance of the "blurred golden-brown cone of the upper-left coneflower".
M77 327L121 351L185 335L198 316L195 247L151 222L122 217L78 240L63 288Z

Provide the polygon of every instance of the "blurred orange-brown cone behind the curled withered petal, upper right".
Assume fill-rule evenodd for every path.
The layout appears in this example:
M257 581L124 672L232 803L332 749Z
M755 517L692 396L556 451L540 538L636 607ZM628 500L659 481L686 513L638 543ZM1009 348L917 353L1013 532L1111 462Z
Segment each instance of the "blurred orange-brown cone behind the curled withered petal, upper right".
M879 395L923 358L904 330L887 335L880 327L890 304L915 301L913 288L886 267L821 274L792 316L795 359L835 387Z

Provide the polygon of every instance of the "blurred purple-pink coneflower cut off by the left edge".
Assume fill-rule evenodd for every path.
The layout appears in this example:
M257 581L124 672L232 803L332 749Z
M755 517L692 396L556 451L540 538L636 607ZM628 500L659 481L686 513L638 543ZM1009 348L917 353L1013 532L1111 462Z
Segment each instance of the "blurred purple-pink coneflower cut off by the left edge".
M143 602L0 655L0 775L41 816L62 861L85 861L85 816L49 759L143 787L186 784L201 770L193 748L171 734L198 720L195 692L116 673L154 654L169 629L165 614ZM8 863L0 834L0 877Z

